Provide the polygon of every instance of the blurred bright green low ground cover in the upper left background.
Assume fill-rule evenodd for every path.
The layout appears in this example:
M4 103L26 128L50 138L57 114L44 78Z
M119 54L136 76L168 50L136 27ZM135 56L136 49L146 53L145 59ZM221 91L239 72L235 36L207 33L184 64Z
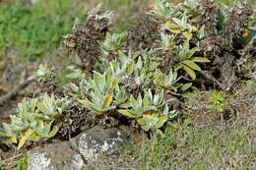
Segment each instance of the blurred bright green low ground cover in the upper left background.
M15 48L23 57L36 59L45 51L53 51L59 45L61 35L73 25L73 19L62 19L71 10L68 0L56 0L43 7L43 1L35 7L22 5L20 1L12 8L0 7L0 50ZM43 7L43 8L42 8ZM47 9L47 10L46 10Z

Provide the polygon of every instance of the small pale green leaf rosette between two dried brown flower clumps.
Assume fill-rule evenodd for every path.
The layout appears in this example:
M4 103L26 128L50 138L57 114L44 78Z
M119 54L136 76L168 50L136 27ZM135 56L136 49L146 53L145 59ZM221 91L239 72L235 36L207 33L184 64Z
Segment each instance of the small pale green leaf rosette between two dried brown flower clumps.
M100 51L104 57L110 54L117 55L118 50L122 47L126 40L126 33L112 33L106 32L105 39L99 41Z

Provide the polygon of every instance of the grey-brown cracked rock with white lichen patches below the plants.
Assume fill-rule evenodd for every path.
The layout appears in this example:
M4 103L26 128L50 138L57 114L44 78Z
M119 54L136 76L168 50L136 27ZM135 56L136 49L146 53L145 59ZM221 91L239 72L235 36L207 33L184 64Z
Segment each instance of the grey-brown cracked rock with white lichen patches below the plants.
M88 162L96 161L99 154L118 155L129 144L127 132L95 127L81 133L70 142L56 142L29 151L29 170L80 170Z

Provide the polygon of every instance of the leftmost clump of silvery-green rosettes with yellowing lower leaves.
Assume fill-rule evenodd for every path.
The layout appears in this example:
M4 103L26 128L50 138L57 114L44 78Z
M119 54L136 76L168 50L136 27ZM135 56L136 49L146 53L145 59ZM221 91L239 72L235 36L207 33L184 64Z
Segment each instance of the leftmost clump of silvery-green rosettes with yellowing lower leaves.
M12 124L3 124L0 137L17 142L20 134L23 135L18 149L27 140L45 141L52 138L58 129L52 128L51 125L68 108L68 103L66 98L56 100L53 94L51 97L44 94L38 100L24 98L23 102L18 104L18 115L11 116Z

